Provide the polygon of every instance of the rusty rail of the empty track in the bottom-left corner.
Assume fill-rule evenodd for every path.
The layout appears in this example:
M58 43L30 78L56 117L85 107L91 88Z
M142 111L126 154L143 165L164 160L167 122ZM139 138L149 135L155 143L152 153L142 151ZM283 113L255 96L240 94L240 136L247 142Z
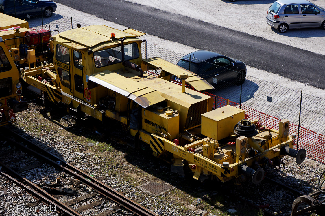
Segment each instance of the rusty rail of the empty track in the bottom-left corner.
M78 212L72 210L70 207L68 207L64 203L60 202L58 199L52 197L50 194L45 192L42 188L36 186L35 184L33 184L28 179L22 177L20 174L18 174L17 172L12 170L11 168L7 167L2 162L0 162L0 165L2 166L1 170L5 169L9 173L14 174L17 178L19 178L19 180L16 180L12 176L0 171L0 174L2 176L6 177L10 181L14 182L16 184L16 186L19 186L20 188L24 189L29 195L31 195L32 197L34 197L37 200L41 201L46 206L51 206L51 205L55 206L55 207L57 207L57 208L55 208L56 212L64 213L64 215L81 216ZM25 182L26 185L23 184L23 182ZM60 211L58 209L60 209Z

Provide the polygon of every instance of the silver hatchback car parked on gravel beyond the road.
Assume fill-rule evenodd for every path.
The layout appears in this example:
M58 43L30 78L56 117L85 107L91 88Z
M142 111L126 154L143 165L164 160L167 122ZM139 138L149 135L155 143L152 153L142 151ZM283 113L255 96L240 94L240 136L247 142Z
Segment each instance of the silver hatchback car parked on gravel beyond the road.
M325 9L306 0L278 0L267 10L266 22L279 33L311 27L325 30Z

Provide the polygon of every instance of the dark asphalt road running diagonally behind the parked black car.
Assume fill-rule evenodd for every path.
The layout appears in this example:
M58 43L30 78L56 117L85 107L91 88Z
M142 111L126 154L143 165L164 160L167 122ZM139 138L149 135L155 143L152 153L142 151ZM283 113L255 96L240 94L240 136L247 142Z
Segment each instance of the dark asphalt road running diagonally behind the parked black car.
M325 56L123 0L55 0L99 18L325 89Z

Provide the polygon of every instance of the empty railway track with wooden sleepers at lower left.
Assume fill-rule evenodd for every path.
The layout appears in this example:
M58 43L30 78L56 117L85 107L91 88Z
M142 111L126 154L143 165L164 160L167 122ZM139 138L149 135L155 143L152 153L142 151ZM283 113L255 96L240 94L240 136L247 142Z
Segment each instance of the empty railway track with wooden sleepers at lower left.
M1 136L2 138L6 139L6 144L10 145L11 148L15 146L21 151L21 155L20 157L16 157L11 160L6 160L6 158L9 158L8 154L10 155L13 150L1 152L0 155L2 156L2 158L0 160L0 166L2 167L0 174L3 177L6 177L8 180L15 182L17 186L23 188L28 194L32 195L32 197L36 198L39 202L44 203L46 206L52 208L54 207L54 210L59 212L60 214L80 216L80 212L89 210L96 206L99 206L99 208L101 208L106 202L111 201L116 204L116 208L108 208L108 210L99 212L97 216L121 214L121 211L125 215L156 215L155 213L149 211L148 209L139 205L135 201L123 196L121 193L103 184L101 181L94 178L93 176L87 174L86 171L82 171L73 166L71 163L65 162L61 158L42 149L41 147L25 139L19 134L10 131L8 128L2 127L1 129ZM10 166L8 166L8 164L15 164L16 162L22 161L23 158L27 157L33 158L33 164L26 164L25 167L19 170L15 170L14 168L10 168ZM44 163L53 166L57 170L62 170L64 172L64 175L66 175L65 178L57 178L56 182L48 182L49 184L47 185L37 185L32 183L25 177L27 175L32 175L28 173L26 174L28 170L39 167ZM25 172L25 176L20 174L22 172ZM64 187L64 184L62 183L67 183L66 179L69 179L69 184L75 187L72 189ZM62 196L64 194L78 194L79 190L83 186L92 188L92 190L95 192L87 193L81 197L75 197L66 202L61 202L59 200L59 198L62 199ZM78 207L76 209L71 208L72 205L93 197L97 197L98 200L95 202L91 202L85 206Z

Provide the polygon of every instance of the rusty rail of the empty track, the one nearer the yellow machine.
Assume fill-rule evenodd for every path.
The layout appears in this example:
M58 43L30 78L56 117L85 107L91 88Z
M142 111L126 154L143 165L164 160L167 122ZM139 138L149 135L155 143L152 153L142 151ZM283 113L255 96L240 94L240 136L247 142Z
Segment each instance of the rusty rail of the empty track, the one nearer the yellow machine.
M7 127L3 127L3 128L4 128L4 130L6 130L6 135L4 135L4 136L13 135L15 137L15 139L22 140L26 146L17 142L17 141L14 141L10 138L7 138L11 142L13 142L13 144L18 145L20 148L23 148L23 149L31 152L34 156L44 159L45 161L51 163L53 166L63 169L65 171L65 173L72 175L79 181L82 181L85 185L94 188L99 193L101 193L104 196L107 196L109 199L116 202L123 208L125 208L139 216L157 216L154 212L144 208L143 206L139 205L132 199L127 198L124 195L120 194L119 192L113 190L110 186L103 184L102 182L100 182L97 179L93 178L92 176L86 174L85 172L78 169L77 167L71 165L68 162L65 162L63 159L57 157L56 155L53 155L52 153L46 151L45 149L36 145L35 143L25 139L24 137L15 133L14 131L9 130ZM61 162L61 164L53 161L50 158L52 158L53 160L55 160L57 162Z

